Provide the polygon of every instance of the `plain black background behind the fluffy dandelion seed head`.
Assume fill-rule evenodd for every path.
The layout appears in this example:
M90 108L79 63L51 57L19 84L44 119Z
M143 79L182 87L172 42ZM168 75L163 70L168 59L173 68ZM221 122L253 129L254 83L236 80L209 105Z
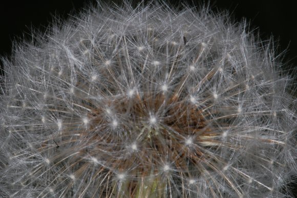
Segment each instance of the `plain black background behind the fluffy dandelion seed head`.
M105 1L106 2L106 1ZM120 3L121 1L115 1ZM132 1L137 3L139 1ZM198 6L202 1L183 1ZM206 3L208 1L205 1ZM69 13L77 13L84 5L95 5L94 0L39 0L0 2L0 56L11 56L12 41L23 38L30 39L31 29L45 31L51 24L53 16L67 18ZM277 52L286 50L284 69L287 73L297 76L297 11L295 0L217 0L209 1L213 10L229 10L235 21L243 17L250 23L250 29L260 32L262 40L273 36ZM173 3L178 4L178 3ZM1 61L0 61L0 64ZM0 72L1 74L1 72ZM297 82L297 81L296 81ZM297 86L296 86L297 87ZM296 184L291 184L297 197Z

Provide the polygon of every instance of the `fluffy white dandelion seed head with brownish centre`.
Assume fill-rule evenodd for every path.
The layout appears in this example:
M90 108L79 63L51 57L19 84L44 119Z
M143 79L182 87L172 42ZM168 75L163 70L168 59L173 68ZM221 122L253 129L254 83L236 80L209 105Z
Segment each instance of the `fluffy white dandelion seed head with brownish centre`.
M0 193L284 197L290 80L227 21L207 8L99 7L17 46L0 96Z

